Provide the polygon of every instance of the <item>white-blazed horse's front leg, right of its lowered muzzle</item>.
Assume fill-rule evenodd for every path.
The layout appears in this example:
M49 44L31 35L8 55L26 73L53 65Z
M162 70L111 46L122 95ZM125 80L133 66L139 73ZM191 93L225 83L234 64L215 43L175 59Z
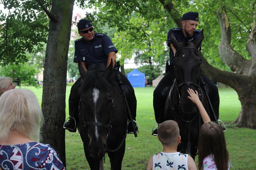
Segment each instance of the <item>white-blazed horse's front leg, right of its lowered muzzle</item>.
M123 156L125 155L125 142L116 152L108 153L111 164L111 170L121 170Z

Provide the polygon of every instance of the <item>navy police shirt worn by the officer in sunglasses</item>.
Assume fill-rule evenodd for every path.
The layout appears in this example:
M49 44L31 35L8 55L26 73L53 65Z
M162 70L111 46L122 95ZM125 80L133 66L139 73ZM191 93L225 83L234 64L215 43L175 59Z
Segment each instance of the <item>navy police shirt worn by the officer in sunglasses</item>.
M106 34L95 33L94 40L90 43L83 38L75 41L74 62L85 62L86 67L95 63L107 65L110 52L118 52L111 39Z

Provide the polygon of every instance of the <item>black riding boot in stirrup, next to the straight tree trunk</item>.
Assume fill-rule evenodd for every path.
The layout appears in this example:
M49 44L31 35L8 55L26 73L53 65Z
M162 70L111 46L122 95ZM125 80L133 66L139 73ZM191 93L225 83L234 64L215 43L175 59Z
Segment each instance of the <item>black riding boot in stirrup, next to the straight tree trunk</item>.
M67 129L69 132L76 132L76 120L75 116L77 114L77 102L69 100L69 120L64 123L63 128Z

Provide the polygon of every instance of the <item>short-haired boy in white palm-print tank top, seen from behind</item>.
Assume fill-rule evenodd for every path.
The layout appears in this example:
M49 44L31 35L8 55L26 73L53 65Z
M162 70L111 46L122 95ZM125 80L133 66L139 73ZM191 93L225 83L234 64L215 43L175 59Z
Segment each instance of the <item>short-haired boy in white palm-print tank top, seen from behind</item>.
M158 139L163 145L163 152L153 155L148 160L147 170L196 170L192 157L177 152L180 143L180 129L177 122L167 120L158 126Z

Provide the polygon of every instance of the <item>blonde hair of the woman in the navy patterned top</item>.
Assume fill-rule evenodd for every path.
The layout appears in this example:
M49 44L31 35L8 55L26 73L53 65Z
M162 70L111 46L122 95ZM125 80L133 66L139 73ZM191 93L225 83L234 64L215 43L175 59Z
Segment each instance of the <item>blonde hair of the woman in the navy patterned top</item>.
M12 131L38 140L43 119L37 97L30 90L8 90L0 97L0 140L7 140Z

